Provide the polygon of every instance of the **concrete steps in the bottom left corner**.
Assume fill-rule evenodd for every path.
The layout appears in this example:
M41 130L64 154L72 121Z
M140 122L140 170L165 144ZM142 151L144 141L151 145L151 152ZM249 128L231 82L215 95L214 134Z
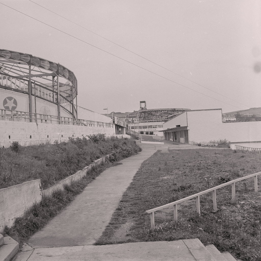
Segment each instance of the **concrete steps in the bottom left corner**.
M10 261L18 250L19 244L14 239L0 234L0 261Z

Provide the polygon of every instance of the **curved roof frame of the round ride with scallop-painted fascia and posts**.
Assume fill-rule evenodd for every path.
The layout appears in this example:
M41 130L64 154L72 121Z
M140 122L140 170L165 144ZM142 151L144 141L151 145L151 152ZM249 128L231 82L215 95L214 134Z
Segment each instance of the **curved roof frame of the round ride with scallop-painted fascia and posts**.
M28 86L30 113L33 113L31 96L32 81L34 81L34 83L44 87L56 87L58 94L61 92L64 97L69 97L72 104L71 114L74 118L77 118L77 79L71 70L60 63L31 54L0 49L0 73L10 77L28 79L28 85L30 85L30 88ZM65 82L66 80L70 84ZM65 88L60 91L61 86L65 86ZM60 98L57 99L57 110L58 116L60 116Z

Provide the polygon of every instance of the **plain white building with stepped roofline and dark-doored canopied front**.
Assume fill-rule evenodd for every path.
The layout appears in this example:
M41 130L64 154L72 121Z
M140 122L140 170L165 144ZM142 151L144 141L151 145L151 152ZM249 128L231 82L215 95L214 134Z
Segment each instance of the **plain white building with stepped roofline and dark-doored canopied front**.
M261 142L261 121L222 122L222 109L189 110L163 123L165 140L191 145L228 140Z

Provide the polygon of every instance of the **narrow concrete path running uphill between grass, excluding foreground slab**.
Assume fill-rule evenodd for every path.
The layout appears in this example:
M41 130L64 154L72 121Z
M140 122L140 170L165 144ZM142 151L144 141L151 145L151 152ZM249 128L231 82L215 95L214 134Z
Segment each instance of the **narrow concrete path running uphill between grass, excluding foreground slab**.
M141 163L156 150L142 146L138 154L106 169L93 180L73 203L52 219L28 241L33 248L93 244L108 225L123 192Z

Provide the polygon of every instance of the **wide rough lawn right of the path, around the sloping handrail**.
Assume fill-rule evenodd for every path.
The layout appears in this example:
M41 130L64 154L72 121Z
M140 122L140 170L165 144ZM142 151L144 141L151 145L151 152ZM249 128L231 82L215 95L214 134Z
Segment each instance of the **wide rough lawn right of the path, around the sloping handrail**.
M145 211L261 170L261 155L228 149L171 150L156 152L141 165L124 192L109 225L96 244L199 238L243 260L261 260L260 193L254 181L236 183L237 202L231 203L231 186L217 190L218 211L212 193L182 203L178 222L173 209L155 212L155 233ZM260 177L259 177L260 189ZM121 234L121 237L119 236ZM124 235L122 237L122 235Z

